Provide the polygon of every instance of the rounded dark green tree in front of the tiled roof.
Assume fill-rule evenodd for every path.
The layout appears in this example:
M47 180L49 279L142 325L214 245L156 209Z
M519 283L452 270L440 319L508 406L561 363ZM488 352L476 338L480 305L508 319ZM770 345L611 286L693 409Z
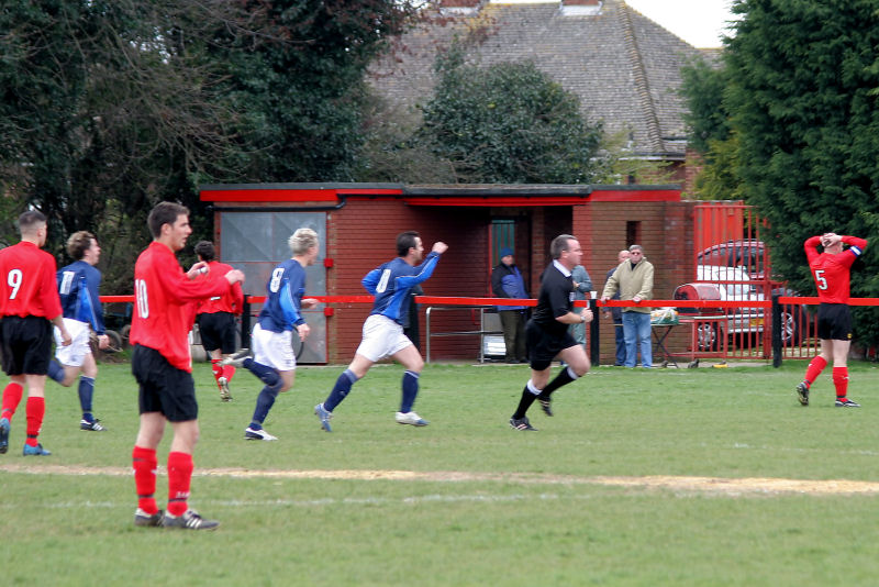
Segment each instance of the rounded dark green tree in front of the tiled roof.
M424 107L423 137L469 184L586 184L602 124L532 63L479 67L460 45L441 55L439 81Z

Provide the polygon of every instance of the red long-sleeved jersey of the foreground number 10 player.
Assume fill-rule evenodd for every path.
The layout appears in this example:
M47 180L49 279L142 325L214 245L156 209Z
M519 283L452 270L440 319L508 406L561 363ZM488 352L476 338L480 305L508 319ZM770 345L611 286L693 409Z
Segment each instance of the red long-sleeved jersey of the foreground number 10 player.
M188 335L196 304L230 289L222 275L190 280L174 252L153 241L134 265L131 343L154 348L178 369L192 373Z

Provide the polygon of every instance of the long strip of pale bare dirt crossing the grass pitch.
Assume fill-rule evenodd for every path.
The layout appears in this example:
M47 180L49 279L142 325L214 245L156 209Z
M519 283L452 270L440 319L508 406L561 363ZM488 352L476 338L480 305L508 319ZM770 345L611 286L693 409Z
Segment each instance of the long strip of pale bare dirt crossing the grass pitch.
M33 475L105 475L131 476L130 468L81 467L47 464L2 464L0 472ZM159 468L164 475L164 469ZM582 477L574 475L542 475L533 473L468 473L468 472L418 472L418 470L359 470L359 469L246 469L202 468L196 469L198 477L283 478L283 479L337 479L337 480L407 480L432 483L494 481L527 485L600 485L631 487L633 489L659 489L678 492L736 495L843 495L879 494L879 481L849 479L779 479L771 477L681 477L653 475L647 477Z

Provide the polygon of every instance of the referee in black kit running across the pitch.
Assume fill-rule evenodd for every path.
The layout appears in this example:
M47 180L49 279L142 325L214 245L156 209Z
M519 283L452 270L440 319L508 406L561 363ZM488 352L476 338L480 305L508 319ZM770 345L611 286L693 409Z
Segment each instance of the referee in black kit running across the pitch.
M589 308L581 314L571 311L574 281L570 272L582 257L580 243L570 234L559 234L553 239L549 252L553 263L541 276L537 308L525 325L531 379L522 390L519 408L510 418L510 425L521 431L536 430L525 416L535 399L546 416L553 416L550 399L553 391L582 377L591 367L586 348L568 333L570 324L592 321L592 311ZM549 381L549 367L556 356L559 356L567 366Z

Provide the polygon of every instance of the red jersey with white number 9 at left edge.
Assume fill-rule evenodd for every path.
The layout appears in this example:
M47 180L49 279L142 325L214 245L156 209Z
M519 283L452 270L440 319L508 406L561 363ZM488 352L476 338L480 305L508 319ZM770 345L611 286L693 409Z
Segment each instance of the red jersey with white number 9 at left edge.
M22 241L0 250L0 315L60 315L55 257Z

